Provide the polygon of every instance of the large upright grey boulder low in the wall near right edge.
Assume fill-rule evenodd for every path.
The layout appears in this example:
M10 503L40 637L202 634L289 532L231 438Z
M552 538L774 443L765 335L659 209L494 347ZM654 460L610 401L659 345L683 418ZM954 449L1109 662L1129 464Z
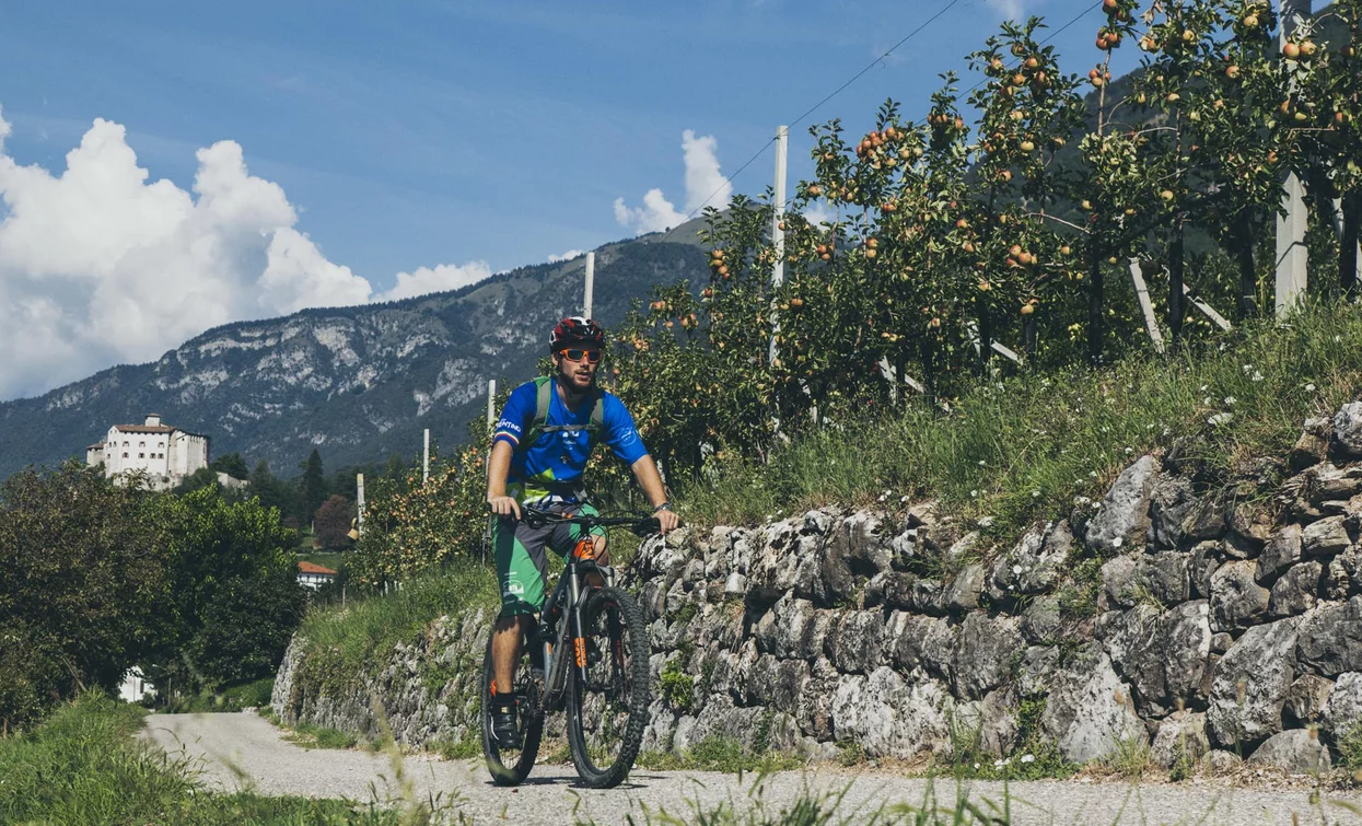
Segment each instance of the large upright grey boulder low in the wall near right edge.
M1282 707L1295 680L1299 617L1254 626L1215 669L1207 722L1220 746L1256 743L1282 731Z

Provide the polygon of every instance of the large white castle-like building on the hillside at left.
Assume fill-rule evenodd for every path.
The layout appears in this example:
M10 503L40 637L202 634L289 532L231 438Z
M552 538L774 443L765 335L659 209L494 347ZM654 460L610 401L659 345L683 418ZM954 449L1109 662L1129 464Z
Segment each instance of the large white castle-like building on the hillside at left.
M143 424L116 424L104 442L86 448L86 463L104 463L108 477L144 472L153 488L173 488L208 466L208 438L161 424L151 413Z

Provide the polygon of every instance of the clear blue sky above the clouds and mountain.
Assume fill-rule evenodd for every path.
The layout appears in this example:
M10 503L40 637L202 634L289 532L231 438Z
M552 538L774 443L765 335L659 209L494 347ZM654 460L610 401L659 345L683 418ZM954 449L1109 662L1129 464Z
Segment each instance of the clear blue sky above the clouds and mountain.
M125 128L148 183L188 192L196 150L234 142L251 176L282 188L291 226L379 294L418 267L496 271L633 234L613 204L637 207L652 188L684 211L684 131L712 136L731 173L948 1L11 4L3 147L61 176L101 117ZM1056 40L1086 72L1095 7L956 0L809 121L866 128L885 97L921 114L936 75L963 72L1009 14L1058 26L1091 10ZM809 121L791 129L791 184L809 172ZM772 164L768 151L734 188L759 192ZM108 360L140 354L112 348ZM0 398L50 380L0 375Z

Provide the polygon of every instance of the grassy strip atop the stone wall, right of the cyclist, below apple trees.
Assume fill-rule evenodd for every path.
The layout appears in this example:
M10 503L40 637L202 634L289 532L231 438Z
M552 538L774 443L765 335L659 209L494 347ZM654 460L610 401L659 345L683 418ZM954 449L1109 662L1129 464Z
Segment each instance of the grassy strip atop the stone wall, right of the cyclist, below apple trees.
M684 487L692 522L753 523L831 503L938 499L1004 536L1096 496L1141 453L1184 440L1214 472L1282 454L1309 416L1362 390L1362 308L1303 309L1167 356L1099 369L981 379L949 412L913 399L891 416L834 423L768 465L720 466Z

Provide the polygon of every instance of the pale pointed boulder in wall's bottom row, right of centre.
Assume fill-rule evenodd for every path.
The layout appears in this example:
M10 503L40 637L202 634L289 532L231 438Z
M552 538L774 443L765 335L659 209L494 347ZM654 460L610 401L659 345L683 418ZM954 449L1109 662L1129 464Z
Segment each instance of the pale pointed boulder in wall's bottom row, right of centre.
M1106 653L1088 652L1060 669L1041 716L1064 759L1087 763L1114 754L1118 744L1148 733Z

